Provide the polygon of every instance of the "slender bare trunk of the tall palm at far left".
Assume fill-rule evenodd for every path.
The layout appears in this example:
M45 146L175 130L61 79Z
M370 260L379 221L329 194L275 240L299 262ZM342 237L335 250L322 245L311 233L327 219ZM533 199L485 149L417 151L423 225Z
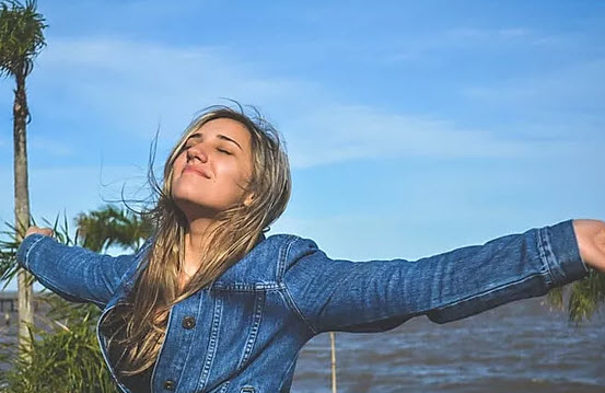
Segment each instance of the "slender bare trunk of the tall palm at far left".
M27 146L25 127L27 124L27 100L25 95L25 76L15 76L16 90L13 105L13 140L14 140L14 218L16 239L22 240L30 224L30 189L27 185ZM31 274L21 269L18 276L19 288L19 344L24 348L27 337L27 323L34 323L33 289ZM25 351L22 351L22 355Z

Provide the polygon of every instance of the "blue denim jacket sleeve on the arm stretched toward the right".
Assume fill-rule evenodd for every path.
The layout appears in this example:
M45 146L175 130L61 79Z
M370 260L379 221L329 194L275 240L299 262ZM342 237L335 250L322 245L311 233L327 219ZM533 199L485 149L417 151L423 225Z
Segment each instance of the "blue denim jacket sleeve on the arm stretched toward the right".
M382 332L421 314L446 323L589 273L572 220L418 261L330 259L296 238L286 261L287 300L314 334Z

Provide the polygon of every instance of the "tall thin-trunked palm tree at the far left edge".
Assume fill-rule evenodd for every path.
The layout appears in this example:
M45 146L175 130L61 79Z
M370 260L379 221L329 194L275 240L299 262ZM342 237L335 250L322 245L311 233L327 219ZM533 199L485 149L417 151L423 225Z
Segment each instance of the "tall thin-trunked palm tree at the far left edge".
M34 58L46 45L44 16L36 12L35 0L25 5L19 1L2 1L0 8L0 76L13 77L16 82L13 104L14 138L14 217L18 241L30 223L30 189L27 186L27 149L25 127L30 122L25 78L34 68ZM33 290L30 275L19 273L19 339L27 334L27 323L34 322Z

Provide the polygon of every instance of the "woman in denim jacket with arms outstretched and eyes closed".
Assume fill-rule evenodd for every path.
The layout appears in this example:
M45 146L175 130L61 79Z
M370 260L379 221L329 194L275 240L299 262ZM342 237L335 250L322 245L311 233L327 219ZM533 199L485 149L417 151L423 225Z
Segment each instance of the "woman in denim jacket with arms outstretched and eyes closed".
M150 176L153 178L153 176ZM289 392L301 347L328 331L445 323L605 269L605 222L567 220L418 261L331 259L265 238L290 196L279 134L213 107L185 130L133 255L98 255L32 227L18 261L103 309L97 336L123 392Z

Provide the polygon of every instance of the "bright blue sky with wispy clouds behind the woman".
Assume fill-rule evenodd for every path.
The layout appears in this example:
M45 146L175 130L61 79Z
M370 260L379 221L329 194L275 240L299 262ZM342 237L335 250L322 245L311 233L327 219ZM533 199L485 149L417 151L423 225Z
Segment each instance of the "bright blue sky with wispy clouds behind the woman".
M283 134L293 194L270 233L331 257L415 259L605 219L605 3L39 1L28 79L32 212L144 197L223 97ZM0 220L13 221L12 80ZM1 111L1 108L4 108Z

